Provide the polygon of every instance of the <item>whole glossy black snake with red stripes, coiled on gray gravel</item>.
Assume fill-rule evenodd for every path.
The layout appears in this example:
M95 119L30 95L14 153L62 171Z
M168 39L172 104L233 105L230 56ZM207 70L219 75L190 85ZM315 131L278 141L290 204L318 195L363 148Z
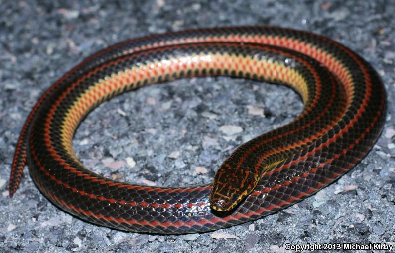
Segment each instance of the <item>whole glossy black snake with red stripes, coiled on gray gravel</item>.
M77 158L73 135L103 101L150 84L206 76L289 86L304 109L290 123L238 146L210 185L121 182ZM226 228L299 202L356 166L380 136L386 110L385 87L374 68L311 32L220 27L130 39L85 58L42 94L16 145L9 196L27 165L52 203L100 226L158 234Z

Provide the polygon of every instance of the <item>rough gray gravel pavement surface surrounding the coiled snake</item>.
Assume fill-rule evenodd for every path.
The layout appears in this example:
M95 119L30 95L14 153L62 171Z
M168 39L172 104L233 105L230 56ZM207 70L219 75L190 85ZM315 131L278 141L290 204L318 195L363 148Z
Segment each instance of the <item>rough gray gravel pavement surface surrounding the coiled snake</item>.
M0 0L0 252L261 253L290 252L283 248L286 242L394 244L394 0L60 2ZM214 239L213 233L124 233L92 225L55 208L27 169L16 196L8 197L23 122L40 94L68 69L128 38L224 25L316 32L371 62L386 84L390 113L362 163L297 205L216 231L230 239ZM119 180L159 186L210 183L237 145L289 122L301 110L298 96L282 86L183 79L102 104L77 130L74 148L89 168Z

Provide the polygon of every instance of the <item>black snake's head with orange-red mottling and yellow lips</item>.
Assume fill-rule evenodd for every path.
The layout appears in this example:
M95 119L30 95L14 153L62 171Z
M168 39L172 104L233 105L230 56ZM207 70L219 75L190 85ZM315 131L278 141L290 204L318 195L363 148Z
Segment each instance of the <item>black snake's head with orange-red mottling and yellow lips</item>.
M259 176L251 169L231 166L230 161L217 170L210 192L210 206L216 211L230 211L237 206L258 184Z

